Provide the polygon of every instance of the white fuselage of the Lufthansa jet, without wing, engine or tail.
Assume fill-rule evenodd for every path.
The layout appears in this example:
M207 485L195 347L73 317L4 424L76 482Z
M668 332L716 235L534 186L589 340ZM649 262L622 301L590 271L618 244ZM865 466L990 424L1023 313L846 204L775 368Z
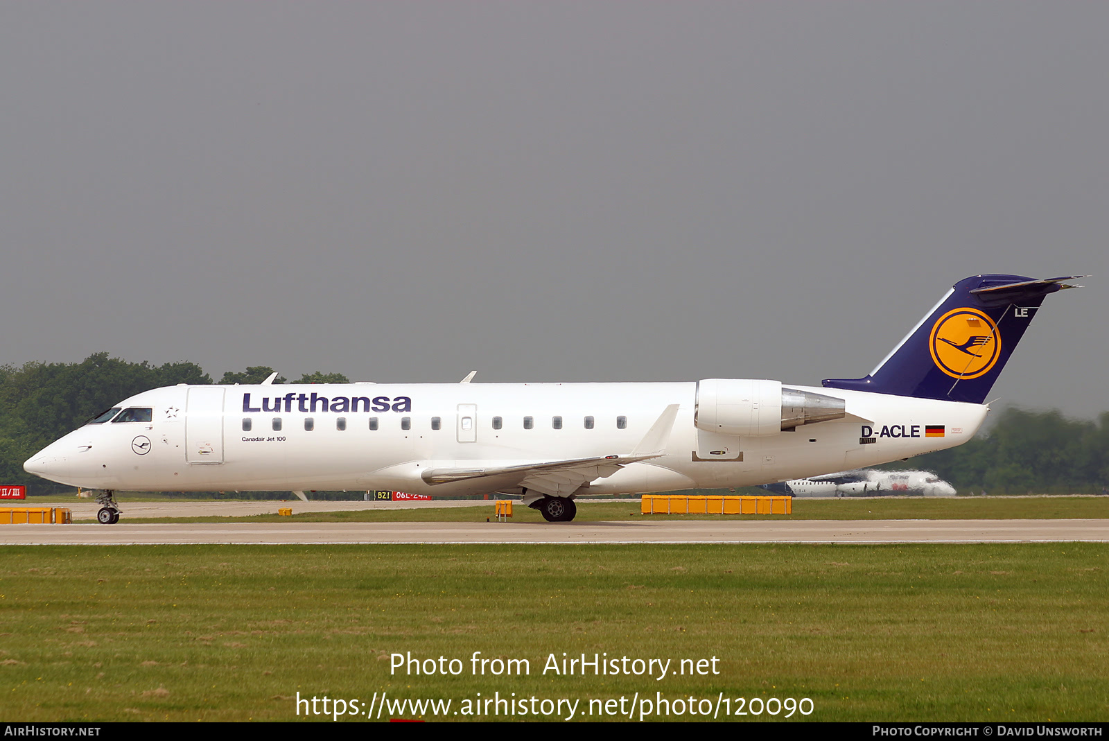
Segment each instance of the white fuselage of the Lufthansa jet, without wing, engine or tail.
M421 475L625 455L678 405L662 455L576 491L639 494L752 486L907 458L966 441L987 412L978 404L833 393L844 399L844 418L734 436L694 425L696 383L171 386L118 405L150 408L149 420L85 425L27 469L114 490L511 491L518 475L439 484Z

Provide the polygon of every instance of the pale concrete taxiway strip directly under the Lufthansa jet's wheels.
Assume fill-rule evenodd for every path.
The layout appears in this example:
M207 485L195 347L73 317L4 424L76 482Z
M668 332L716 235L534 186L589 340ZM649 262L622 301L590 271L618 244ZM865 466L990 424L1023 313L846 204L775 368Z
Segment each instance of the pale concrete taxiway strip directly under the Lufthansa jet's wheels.
M1109 542L1109 519L11 525L0 545Z

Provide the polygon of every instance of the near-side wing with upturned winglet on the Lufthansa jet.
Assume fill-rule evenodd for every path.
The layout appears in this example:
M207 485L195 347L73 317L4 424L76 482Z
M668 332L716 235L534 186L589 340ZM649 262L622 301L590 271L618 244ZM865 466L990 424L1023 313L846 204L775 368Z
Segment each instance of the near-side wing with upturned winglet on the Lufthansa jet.
M668 406L630 454L540 460L516 466L431 468L420 474L420 478L427 484L436 485L491 476L512 476L516 481L512 486L522 486L548 496L567 497L582 485L611 476L628 464L665 455L667 441L678 417L678 404Z

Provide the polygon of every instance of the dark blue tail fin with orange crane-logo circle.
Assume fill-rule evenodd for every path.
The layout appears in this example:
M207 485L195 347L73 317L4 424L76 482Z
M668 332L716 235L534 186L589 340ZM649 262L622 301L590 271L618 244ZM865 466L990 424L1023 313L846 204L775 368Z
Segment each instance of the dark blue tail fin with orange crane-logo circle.
M828 388L981 404L1044 296L1081 275L964 278L865 378L827 378Z

